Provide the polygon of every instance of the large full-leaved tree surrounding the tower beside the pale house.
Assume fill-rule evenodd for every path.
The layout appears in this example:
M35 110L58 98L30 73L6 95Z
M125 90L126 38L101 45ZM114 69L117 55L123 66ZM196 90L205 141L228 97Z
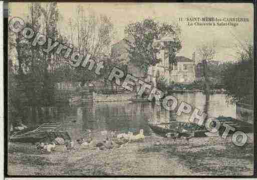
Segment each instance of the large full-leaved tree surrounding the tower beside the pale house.
M144 70L146 73L149 66L156 65L161 61L158 53L161 49L169 49L169 64L174 63L175 54L181 49L179 39L180 28L166 23L159 24L151 18L141 22L131 23L125 28L125 34L132 37L128 44L129 59L132 64ZM170 43L161 45L156 40L164 36L173 37Z

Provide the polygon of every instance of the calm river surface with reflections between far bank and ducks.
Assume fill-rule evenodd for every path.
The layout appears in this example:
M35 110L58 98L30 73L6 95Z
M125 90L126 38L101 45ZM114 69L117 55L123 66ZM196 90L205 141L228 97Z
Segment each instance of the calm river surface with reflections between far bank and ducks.
M235 105L226 103L225 94L206 97L203 93L196 92L173 94L173 96L177 97L179 102L185 101L206 112L209 117L223 115L235 118ZM30 109L26 114L28 115L26 124L61 122L63 129L68 131L73 139L86 136L87 129L98 136L101 131L138 132L142 128L144 133L149 135L148 119L155 122L188 121L190 116L190 114L176 116L175 112L169 112L151 102L131 103L130 101L40 107L36 112L32 113Z

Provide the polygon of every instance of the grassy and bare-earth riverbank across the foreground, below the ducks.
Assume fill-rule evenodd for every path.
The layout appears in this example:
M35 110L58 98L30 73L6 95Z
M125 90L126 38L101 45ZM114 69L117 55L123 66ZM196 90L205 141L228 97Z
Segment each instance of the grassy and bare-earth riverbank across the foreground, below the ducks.
M146 136L121 148L57 150L40 154L34 145L9 143L9 175L251 175L253 135L237 147L231 137L173 141Z

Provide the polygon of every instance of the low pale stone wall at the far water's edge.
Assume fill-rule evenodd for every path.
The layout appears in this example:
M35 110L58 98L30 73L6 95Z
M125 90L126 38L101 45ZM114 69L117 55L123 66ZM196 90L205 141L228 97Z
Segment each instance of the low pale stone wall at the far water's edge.
M95 102L128 101L133 95L134 93L100 94L93 92L93 100Z

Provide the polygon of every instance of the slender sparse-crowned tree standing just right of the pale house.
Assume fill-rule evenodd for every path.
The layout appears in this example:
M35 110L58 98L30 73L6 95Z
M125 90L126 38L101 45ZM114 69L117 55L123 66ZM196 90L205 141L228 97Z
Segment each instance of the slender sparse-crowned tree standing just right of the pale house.
M197 55L200 57L200 61L203 67L203 78L204 78L204 90L209 91L209 78L208 78L208 61L214 59L216 55L216 42L208 42L198 47Z

